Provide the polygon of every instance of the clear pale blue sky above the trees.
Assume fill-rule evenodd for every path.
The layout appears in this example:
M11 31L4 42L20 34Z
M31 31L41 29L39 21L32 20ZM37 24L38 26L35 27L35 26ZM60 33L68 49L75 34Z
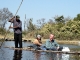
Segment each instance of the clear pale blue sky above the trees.
M0 0L0 9L8 8L14 15L20 6L22 0ZM17 13L24 26L25 14L26 19L33 18L36 20L45 18L46 21L56 15L64 17L76 17L80 13L80 0L23 0L23 3ZM7 27L10 23L7 23Z

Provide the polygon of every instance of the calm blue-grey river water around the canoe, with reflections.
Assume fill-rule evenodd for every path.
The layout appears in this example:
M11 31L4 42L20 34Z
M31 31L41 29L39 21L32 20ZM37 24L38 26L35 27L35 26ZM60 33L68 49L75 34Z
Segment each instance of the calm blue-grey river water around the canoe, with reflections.
M29 42L23 42L23 46L27 47L31 45ZM34 52L34 51L21 51L11 50L4 48L5 46L13 46L13 41L6 41L3 47L0 49L0 60L79 60L78 55L73 54L61 54L61 53L46 53L46 52ZM75 45L64 45L69 48L80 48Z

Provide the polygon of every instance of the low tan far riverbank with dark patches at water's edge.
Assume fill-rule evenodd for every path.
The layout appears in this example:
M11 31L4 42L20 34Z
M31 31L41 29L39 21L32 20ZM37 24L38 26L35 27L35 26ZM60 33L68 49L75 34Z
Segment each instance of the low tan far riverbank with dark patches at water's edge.
M4 36L0 35L0 40L3 39ZM13 37L9 36L8 38L5 38L7 41L14 40ZM33 42L35 38L22 38L25 42ZM47 39L42 39L42 43L45 43ZM72 44L72 45L80 45L79 40L56 40L59 44Z

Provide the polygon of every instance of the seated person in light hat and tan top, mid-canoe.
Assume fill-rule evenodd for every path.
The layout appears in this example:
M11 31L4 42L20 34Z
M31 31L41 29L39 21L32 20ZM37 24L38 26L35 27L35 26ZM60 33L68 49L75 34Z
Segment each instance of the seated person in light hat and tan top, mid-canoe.
M37 38L33 41L33 45L28 46L28 47L32 47L32 48L35 48L35 49L40 49L41 45L42 45L41 35L37 35Z

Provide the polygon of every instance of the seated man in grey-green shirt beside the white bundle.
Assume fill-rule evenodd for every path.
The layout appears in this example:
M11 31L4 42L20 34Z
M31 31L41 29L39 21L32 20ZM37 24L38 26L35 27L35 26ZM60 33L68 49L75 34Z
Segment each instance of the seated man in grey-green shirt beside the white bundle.
M46 40L45 44L46 50L54 50L54 51L61 51L63 47L60 47L59 44L54 40L54 35L50 34L49 39Z

